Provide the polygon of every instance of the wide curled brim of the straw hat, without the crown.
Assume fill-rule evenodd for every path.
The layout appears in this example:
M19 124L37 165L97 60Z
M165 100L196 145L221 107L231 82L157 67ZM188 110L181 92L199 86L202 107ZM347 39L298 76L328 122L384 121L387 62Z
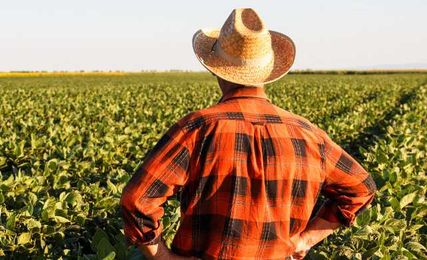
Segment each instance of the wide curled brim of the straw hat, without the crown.
M268 64L233 64L212 51L220 30L198 30L193 36L193 50L200 63L227 81L242 85L271 83L286 75L295 60L295 44L286 35L269 31L273 55Z

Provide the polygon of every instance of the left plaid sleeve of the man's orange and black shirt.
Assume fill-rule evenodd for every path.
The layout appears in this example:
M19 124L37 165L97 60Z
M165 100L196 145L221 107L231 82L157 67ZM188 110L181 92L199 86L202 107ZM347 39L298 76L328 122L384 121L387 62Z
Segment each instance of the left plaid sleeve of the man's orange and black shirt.
M158 243L163 226L162 204L187 181L188 134L175 123L145 156L123 189L120 209L128 244Z

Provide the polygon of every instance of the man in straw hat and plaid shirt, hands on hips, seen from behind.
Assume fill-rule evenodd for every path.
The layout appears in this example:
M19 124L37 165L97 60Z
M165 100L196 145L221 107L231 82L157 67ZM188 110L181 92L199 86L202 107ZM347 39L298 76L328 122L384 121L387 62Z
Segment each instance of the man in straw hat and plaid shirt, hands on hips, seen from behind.
M264 84L288 72L295 46L253 9L197 31L193 48L222 97L176 122L124 188L127 241L149 259L302 259L353 223L375 183L324 131L267 97ZM181 223L169 250L160 220L175 194Z

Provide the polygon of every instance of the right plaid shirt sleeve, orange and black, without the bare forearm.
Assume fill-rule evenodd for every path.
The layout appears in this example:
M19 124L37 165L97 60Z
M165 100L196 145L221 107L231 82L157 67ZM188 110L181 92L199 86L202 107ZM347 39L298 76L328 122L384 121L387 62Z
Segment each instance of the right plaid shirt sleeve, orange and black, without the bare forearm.
M327 200L318 216L351 226L372 202L377 187L370 174L323 131L321 157L326 171L322 194ZM323 151L322 151L323 150Z

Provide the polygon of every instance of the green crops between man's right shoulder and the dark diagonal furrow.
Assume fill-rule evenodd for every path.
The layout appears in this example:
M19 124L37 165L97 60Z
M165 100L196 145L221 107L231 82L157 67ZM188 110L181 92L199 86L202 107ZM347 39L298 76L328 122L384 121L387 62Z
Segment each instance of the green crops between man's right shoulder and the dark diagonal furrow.
M363 104L377 103L417 86L425 77L322 77L305 76L267 86L273 103L327 128L336 118L363 111Z

